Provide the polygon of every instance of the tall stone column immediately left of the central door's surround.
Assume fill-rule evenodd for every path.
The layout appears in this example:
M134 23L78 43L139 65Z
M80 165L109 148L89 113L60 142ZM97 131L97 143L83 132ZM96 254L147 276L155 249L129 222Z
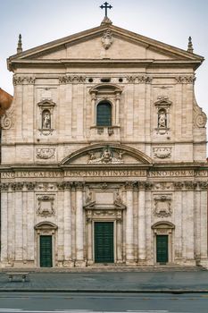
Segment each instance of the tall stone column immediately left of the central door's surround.
M85 266L84 261L84 223L83 223L83 182L75 182L76 186L76 266Z

